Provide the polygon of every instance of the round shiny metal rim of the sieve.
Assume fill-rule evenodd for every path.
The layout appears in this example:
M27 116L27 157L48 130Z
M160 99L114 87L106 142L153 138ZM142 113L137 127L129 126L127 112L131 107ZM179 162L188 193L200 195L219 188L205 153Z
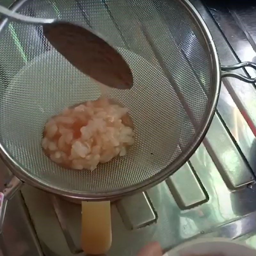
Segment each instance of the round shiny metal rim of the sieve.
M29 0L20 0L11 5L11 9L16 11L20 7L22 7L23 4L28 2ZM28 183L29 185L32 185L34 187L43 189L45 191L59 194L65 197L70 198L77 198L80 200L110 200L110 199L116 199L122 196L130 195L133 193L137 193L140 191L145 191L148 188L151 188L161 181L165 180L168 176L170 176L172 173L176 172L183 164L185 164L186 161L190 158L190 156L193 155L193 153L196 151L202 140L204 139L204 136L206 132L209 129L209 126L211 124L213 115L215 113L215 109L218 102L219 92L220 92L220 61L217 54L217 49L215 47L215 44L213 42L211 33L209 29L207 28L203 18L197 12L196 8L188 1L188 0L177 0L180 2L184 8L187 10L190 17L195 20L196 27L201 32L201 35L204 38L204 43L206 44L208 48L208 53L210 56L210 67L211 67L211 74L214 74L214 76L211 76L211 85L215 89L215 92L213 93L214 97L211 99L211 108L209 109L209 115L205 117L204 125L201 129L201 131L197 134L196 140L194 140L189 147L186 149L186 152L182 154L177 160L172 162L170 165L165 167L162 171L158 172L151 178L144 180L138 184L122 188L122 189L116 189L116 190L110 190L110 191L102 191L100 193L95 192L84 192L81 193L79 191L71 191L67 189L61 189L57 188L56 186L52 186L50 183L43 182L40 179L35 178L33 175L26 172L26 169L23 169L20 167L20 165L12 160L11 155L8 153L6 148L2 143L0 143L0 157L3 159L6 166L10 169L10 171L17 176L20 180ZM0 33L4 26L6 25L8 19L2 18L0 19Z

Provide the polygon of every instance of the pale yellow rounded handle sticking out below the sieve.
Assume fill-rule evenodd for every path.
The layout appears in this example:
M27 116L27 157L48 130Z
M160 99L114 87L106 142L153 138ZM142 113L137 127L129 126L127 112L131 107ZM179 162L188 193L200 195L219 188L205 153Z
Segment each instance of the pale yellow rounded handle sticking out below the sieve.
M112 243L110 201L82 201L82 239L85 253L102 255Z

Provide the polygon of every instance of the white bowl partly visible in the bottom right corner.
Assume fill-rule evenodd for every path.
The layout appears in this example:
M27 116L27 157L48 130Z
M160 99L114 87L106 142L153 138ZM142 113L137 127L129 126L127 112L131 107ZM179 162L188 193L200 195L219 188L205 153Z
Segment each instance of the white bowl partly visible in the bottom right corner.
M180 244L164 256L256 256L256 250L226 238L203 238Z

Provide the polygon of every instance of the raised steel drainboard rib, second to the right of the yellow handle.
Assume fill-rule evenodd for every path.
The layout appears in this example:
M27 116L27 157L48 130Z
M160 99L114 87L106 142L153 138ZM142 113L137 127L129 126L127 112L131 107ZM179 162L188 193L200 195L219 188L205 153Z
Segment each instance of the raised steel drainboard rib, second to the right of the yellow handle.
M193 208L208 200L208 195L189 162L179 172L172 174L166 183L180 209Z

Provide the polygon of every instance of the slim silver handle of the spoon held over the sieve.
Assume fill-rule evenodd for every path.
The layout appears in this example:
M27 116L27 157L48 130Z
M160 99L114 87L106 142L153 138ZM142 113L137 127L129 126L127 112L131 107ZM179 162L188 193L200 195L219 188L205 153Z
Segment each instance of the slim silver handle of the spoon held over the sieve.
M12 20L25 22L25 23L51 24L55 21L55 19L43 19L43 18L34 18L34 17L25 16L20 13L9 10L1 5L0 5L0 13L8 18L11 18Z

